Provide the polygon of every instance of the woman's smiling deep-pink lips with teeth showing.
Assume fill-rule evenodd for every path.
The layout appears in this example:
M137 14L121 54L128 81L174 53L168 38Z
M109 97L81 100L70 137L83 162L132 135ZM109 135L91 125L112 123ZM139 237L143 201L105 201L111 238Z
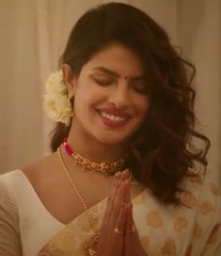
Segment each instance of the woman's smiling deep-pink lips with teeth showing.
M131 116L125 111L118 111L116 109L102 109L99 110L98 113L103 124L108 128L120 128L124 126ZM112 115L112 117L108 118L108 115ZM115 116L115 118L113 116Z

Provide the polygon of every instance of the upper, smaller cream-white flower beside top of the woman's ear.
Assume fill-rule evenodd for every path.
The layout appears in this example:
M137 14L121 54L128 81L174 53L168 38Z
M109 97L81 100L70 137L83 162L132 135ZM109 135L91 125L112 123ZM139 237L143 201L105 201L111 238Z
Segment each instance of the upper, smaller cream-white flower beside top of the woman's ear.
M45 89L47 93L66 94L67 88L64 83L62 72L56 71L47 78Z

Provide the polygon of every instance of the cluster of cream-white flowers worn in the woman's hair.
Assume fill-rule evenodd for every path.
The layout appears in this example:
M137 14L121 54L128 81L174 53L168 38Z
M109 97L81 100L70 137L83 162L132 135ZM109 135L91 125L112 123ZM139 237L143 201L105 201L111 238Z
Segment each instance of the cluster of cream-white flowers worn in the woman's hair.
M47 78L45 89L44 111L55 122L64 123L68 127L74 113L61 71L56 71Z

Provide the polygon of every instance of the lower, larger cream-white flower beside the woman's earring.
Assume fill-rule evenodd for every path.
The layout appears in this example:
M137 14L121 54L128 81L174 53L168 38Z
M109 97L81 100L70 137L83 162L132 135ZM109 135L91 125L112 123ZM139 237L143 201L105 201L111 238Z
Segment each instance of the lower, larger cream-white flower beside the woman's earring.
M69 126L71 122L71 101L67 95L49 93L44 95L44 110L48 116L56 122L61 122Z

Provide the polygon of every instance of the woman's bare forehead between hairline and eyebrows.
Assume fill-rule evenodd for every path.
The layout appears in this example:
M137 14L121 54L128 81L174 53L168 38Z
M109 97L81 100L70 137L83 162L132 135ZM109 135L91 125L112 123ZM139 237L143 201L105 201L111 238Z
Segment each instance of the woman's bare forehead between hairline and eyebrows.
M87 62L87 71L103 66L122 76L143 76L144 67L138 55L121 44L111 44L96 53Z

